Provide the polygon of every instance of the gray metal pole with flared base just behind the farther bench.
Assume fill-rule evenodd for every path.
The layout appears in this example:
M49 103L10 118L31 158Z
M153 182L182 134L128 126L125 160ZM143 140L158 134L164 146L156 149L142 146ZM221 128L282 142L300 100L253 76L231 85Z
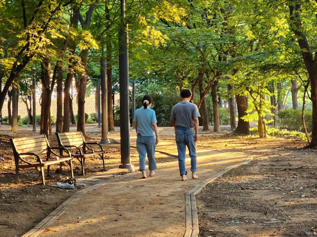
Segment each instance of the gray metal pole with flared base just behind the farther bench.
M102 119L102 127L101 127L101 144L109 144L109 139L107 137L108 132L108 110L107 110L107 77L106 77L106 60L105 58L101 59L101 119Z

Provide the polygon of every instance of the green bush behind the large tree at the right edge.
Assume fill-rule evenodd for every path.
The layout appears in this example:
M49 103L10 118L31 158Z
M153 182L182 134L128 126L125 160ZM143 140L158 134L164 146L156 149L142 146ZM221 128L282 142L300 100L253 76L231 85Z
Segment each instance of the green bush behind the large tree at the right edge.
M280 128L292 131L303 131L301 110L280 110L277 114L277 122ZM308 132L312 131L312 111L305 111L305 124Z

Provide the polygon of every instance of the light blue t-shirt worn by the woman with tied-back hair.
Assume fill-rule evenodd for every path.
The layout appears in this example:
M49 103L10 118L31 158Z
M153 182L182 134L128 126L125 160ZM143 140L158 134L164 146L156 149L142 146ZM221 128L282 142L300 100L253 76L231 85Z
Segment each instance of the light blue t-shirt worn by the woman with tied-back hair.
M133 122L138 123L137 133L141 136L154 136L155 132L152 126L152 122L158 122L155 117L155 111L144 107L137 109L134 113Z

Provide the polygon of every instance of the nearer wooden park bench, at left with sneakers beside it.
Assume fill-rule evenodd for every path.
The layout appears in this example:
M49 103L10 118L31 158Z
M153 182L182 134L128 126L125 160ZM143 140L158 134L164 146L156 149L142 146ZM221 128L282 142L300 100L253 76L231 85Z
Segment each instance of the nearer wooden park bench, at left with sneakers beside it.
M10 138L15 160L15 182L19 182L19 169L35 167L42 175L43 185L45 185L44 166L48 167L50 175L50 165L59 163L59 173L61 173L62 162L66 161L71 170L71 177L74 178L72 156L63 147L50 147L45 134ZM59 154L65 151L67 155L57 155L52 150L58 150ZM58 153L58 152L57 152ZM39 169L40 168L40 169Z

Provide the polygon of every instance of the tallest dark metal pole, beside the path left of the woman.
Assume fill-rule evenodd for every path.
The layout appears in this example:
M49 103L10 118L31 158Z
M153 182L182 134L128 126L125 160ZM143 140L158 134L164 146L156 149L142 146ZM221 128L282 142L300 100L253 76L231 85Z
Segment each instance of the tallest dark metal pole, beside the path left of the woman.
M121 164L119 168L133 171L130 163L130 127L129 127L129 62L127 24L125 22L125 0L120 0L121 27L119 30L119 83L120 83L120 147Z

